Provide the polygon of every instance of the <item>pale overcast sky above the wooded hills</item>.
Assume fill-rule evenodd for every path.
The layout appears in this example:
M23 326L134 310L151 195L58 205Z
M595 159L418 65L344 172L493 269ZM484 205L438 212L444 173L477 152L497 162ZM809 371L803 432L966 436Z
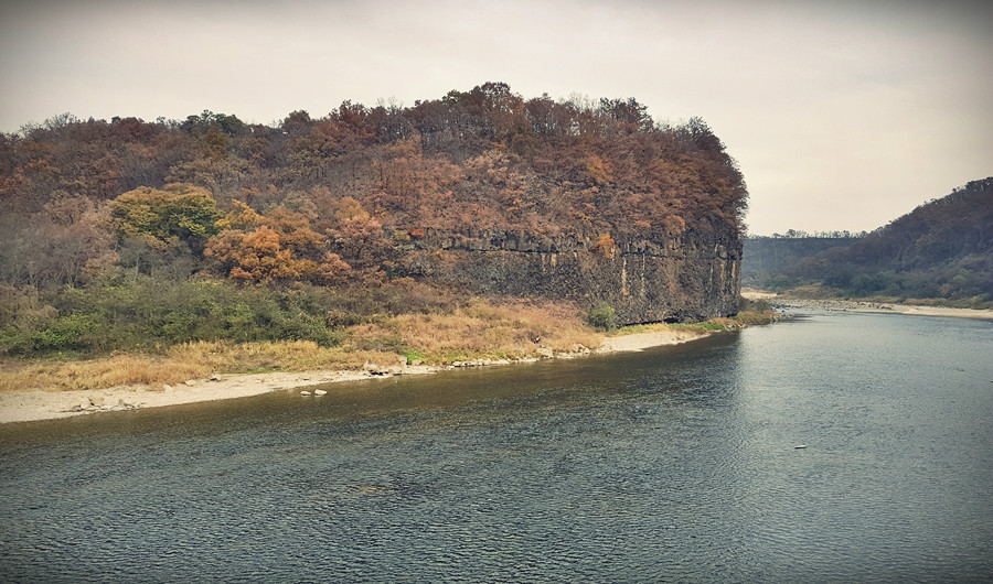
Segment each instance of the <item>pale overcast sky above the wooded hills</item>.
M273 123L505 82L704 118L749 231L872 230L993 175L993 2L0 3L0 131L62 112Z

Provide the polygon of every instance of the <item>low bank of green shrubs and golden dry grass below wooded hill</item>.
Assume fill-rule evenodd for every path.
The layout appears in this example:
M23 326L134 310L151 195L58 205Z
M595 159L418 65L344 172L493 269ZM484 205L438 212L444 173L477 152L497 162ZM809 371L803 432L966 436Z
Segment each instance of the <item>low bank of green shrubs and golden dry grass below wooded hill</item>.
M713 333L778 317L759 302L733 318L608 333L573 304L470 298L409 281L275 292L146 281L14 300L20 310L9 310L0 329L0 391L161 387L217 374L387 368L401 359L513 360L596 349L604 334Z

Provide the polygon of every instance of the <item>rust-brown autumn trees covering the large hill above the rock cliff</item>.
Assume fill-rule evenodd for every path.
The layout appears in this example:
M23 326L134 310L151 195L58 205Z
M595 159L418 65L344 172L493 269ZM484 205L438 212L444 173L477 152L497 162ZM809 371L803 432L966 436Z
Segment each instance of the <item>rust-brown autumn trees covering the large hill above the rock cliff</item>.
M227 224L218 225L239 231L238 245L265 226L293 261L322 264L331 251L359 271L388 268L396 249L384 234L395 230L609 232L621 239L696 229L729 240L738 237L747 199L740 172L700 119L656 125L632 98L525 100L506 84L487 83L409 108L344 101L321 118L295 111L278 127L204 111L154 123L63 116L3 134L0 217L18 218L0 225L3 245L31 239L21 224L49 213L58 193L98 207L173 181L207 190L225 208L229 199L244 202L232 203ZM70 212L56 207L50 210ZM205 226L199 228L204 240L212 235ZM109 257L98 251L99 238L81 237L74 240L93 248L87 257ZM148 242L174 250L174 237L184 235L160 232ZM232 237L224 245L233 245ZM270 239L256 236L246 253L268 257L263 251ZM257 267L235 273L252 280L280 270L316 273L273 253L268 275L255 273ZM58 261L67 262L63 272L81 273L70 266L77 260ZM66 278L51 280L60 279Z

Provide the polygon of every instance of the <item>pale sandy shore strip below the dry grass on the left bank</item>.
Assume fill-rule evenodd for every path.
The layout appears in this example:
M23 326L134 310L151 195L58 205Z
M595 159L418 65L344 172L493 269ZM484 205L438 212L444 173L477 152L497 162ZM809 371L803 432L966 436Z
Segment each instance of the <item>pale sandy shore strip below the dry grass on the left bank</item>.
M660 345L674 345L706 336L692 332L648 332L608 337L592 353L642 350ZM551 349L549 349L551 350ZM576 357L581 354L556 355ZM534 360L534 359L525 359ZM510 361L473 361L459 366L509 364ZM218 375L210 379L191 379L177 386L149 388L126 386L75 391L4 391L0 393L0 423L30 422L83 415L89 413L178 405L199 401L226 400L258 396L270 391L307 391L310 386L385 379L395 375L425 375L452 367L409 366L392 372L318 370L303 372L269 372L254 375Z

